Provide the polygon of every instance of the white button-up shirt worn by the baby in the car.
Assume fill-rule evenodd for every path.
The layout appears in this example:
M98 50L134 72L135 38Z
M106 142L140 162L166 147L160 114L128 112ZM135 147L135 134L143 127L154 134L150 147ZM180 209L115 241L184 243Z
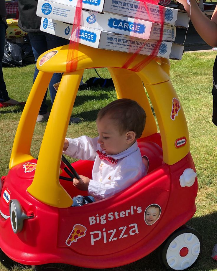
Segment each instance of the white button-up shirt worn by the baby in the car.
M101 160L96 153L97 150L105 153L97 143L98 137L90 138L83 135L67 140L69 146L64 154L81 160L95 160L88 194L96 200L108 198L124 190L147 174L137 142L121 153L109 155L118 160L116 164L111 164Z

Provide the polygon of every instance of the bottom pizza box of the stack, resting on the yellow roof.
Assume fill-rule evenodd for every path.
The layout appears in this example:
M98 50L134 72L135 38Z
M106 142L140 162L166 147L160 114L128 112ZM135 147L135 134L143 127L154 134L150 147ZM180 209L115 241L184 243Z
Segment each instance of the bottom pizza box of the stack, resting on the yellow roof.
M71 39L72 29L72 24L53 19L42 18L41 21L41 31L65 39ZM80 43L99 49L136 53L144 45L139 54L150 55L157 45L155 40L144 40L90 27L80 26L75 31ZM182 59L183 50L184 46L182 45L161 42L157 56L180 60Z

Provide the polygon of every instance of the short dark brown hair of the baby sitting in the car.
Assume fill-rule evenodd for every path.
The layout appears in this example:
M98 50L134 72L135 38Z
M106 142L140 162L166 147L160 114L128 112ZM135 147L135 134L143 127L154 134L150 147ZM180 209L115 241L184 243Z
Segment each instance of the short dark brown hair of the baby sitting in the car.
M136 139L142 135L146 113L136 101L130 99L115 100L99 110L97 119L101 120L105 115L109 115L112 120L115 120L121 134L134 131Z

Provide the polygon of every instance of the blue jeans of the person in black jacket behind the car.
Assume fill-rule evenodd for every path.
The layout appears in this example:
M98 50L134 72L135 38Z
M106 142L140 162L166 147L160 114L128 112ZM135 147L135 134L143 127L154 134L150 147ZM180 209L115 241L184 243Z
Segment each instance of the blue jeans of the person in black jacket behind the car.
M37 33L28 33L29 40L32 46L32 51L35 57L35 61L37 61L38 57L46 52L47 50L53 49L55 47L59 47L62 45L66 45L69 43L69 40L63 39L45 32L37 32ZM35 66L34 76L33 76L33 83L38 75L39 70ZM51 103L53 104L55 96L56 96L56 90L54 88L54 84L60 82L62 78L61 73L54 73L50 83L49 83L49 89L50 89L50 98ZM39 114L43 115L47 113L47 104L46 104L46 98L47 98L47 91L45 93L45 97L42 101L41 108L39 110Z

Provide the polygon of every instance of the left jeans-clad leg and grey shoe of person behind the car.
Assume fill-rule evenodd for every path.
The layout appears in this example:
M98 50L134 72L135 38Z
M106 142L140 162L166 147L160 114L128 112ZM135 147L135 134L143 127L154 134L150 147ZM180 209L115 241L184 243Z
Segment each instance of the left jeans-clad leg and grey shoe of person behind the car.
M29 40L32 46L32 51L33 51L35 62L36 62L38 57L47 51L47 42L46 42L45 33L44 32L28 33L28 36L29 36ZM38 72L39 70L37 69L35 65L33 83L38 75ZM37 122L45 121L49 117L49 113L47 113L46 98L47 98L47 91L45 93L41 108L39 110L39 115L41 115L41 119L39 121L37 120Z

